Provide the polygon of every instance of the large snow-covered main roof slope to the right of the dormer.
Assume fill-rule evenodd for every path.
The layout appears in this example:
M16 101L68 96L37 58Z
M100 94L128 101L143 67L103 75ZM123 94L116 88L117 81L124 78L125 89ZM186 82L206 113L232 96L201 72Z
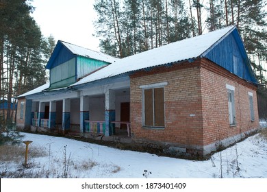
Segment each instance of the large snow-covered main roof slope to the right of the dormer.
M101 80L106 77L112 77L130 71L137 71L162 64L179 62L181 60L199 57L234 28L235 26L225 27L201 36L187 38L175 43L170 43L162 47L123 58L117 62L113 62L112 64L95 73L92 73L91 75L88 75L87 77L84 77L83 79L79 80L79 82L71 86L84 84L95 80Z

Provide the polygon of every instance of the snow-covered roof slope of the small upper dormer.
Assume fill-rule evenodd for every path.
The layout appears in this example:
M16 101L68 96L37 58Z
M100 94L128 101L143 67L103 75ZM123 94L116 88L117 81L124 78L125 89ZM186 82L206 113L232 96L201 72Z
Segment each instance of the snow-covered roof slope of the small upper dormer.
M95 60L101 60L105 62L116 62L117 60L120 60L119 58L114 58L112 56L109 56L105 53L97 52L97 51L92 51L90 49L86 49L84 47L80 47L77 45L73 45L71 43L66 43L62 40L60 40L61 43L66 46L73 54L77 56L84 56L86 58L92 58Z

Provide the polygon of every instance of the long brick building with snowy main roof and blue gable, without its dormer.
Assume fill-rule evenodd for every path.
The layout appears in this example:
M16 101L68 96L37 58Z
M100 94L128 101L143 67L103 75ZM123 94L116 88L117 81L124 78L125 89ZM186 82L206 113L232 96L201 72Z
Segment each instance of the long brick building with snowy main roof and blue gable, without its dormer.
M57 58L53 54L51 58ZM48 65L54 64L49 60ZM259 128L257 80L235 26L92 72L70 84L50 83L18 97L29 103L28 115L38 114L27 125L64 133L76 130L81 136L103 134L103 139L124 131L134 143L200 155Z

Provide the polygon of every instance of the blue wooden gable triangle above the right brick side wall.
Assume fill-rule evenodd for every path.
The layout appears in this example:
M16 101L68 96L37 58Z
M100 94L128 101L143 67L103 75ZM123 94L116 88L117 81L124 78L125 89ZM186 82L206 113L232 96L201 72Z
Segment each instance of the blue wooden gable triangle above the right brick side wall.
M241 40L238 41L240 38L237 38L239 34L236 33L233 31L203 56L244 80L257 83L246 51L242 49L244 45Z

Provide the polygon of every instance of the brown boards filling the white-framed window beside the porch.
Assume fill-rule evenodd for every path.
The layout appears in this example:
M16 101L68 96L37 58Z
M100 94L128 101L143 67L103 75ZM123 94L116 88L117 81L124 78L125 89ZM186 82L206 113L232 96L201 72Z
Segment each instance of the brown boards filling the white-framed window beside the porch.
M164 88L144 90L144 125L164 127Z

